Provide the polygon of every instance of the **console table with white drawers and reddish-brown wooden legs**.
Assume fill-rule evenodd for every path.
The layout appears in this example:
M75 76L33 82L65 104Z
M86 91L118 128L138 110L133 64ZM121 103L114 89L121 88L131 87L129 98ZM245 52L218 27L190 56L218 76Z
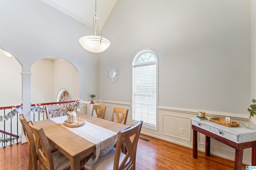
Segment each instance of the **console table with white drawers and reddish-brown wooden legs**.
M239 127L226 127L211 121L192 119L193 129L193 158L197 158L198 132L205 135L205 155L210 155L210 138L215 139L234 149L234 170L242 169L243 151L252 148L252 166L256 166L256 131L247 129L244 125Z

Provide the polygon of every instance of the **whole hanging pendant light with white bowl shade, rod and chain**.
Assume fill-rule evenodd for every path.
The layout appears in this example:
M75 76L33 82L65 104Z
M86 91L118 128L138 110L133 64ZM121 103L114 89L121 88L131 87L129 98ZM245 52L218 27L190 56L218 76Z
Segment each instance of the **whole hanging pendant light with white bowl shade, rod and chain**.
M105 51L110 46L110 41L108 39L102 37L102 35L97 36L97 29L98 29L98 19L96 17L97 11L97 2L95 0L95 15L93 17L93 29L95 35L87 35L81 37L79 39L79 43L88 51L93 53L100 53Z

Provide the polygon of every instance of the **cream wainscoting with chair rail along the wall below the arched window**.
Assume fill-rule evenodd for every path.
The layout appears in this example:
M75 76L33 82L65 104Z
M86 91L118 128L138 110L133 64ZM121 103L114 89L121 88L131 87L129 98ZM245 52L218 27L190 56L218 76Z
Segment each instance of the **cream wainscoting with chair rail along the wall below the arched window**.
M107 106L105 119L111 119L113 107L121 107L129 109L127 124L133 126L135 123L132 122L132 106L128 102L118 101L107 101L99 100L96 101L100 105ZM86 108L84 108L86 110ZM202 109L188 109L188 108L177 108L177 107L166 107L158 106L156 118L157 127L156 129L150 129L146 126L142 126L141 133L176 143L185 147L192 148L192 129L191 119L198 115L198 111L205 111L207 117L222 117L230 116L233 121L239 122L240 125L244 125L248 120L248 115L238 113L224 113L218 111L208 111ZM183 129L183 133L180 133L180 128ZM230 160L234 160L235 150L228 147L214 139L210 139L210 154L221 156ZM205 135L198 134L198 150L205 151ZM191 155L192 156L192 155ZM251 149L244 149L243 163L250 165L251 162Z

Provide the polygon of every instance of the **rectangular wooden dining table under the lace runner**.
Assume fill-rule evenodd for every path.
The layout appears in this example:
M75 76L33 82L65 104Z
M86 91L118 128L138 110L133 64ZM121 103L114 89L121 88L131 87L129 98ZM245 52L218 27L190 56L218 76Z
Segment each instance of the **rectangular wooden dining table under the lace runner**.
M120 130L125 130L130 127L130 125L124 125L122 123L117 123L107 119L100 119L82 113L80 113L78 117L79 119L85 120L85 125L90 125L96 129L104 129L102 130L104 133L105 131L107 133L118 133ZM56 119L63 120L66 119L66 116L60 118L56 117ZM87 138L84 138L83 135L76 133L76 128L78 127L65 127L64 123L58 122L56 119L53 118L35 121L33 124L37 128L43 128L48 141L70 159L70 169L79 170L80 160L95 152L97 144L91 140L86 140ZM93 134L94 133L90 133L89 135L92 135L93 138Z

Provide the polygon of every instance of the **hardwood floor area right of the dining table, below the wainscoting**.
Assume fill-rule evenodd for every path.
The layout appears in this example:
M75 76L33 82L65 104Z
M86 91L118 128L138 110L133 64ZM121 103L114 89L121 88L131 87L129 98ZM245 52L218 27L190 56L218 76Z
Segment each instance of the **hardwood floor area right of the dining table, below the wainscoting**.
M193 158L192 149L162 141L153 137L140 135L150 142L139 140L137 170L232 170L234 161L218 156L205 156L198 151L198 158ZM242 166L245 170L245 165Z

